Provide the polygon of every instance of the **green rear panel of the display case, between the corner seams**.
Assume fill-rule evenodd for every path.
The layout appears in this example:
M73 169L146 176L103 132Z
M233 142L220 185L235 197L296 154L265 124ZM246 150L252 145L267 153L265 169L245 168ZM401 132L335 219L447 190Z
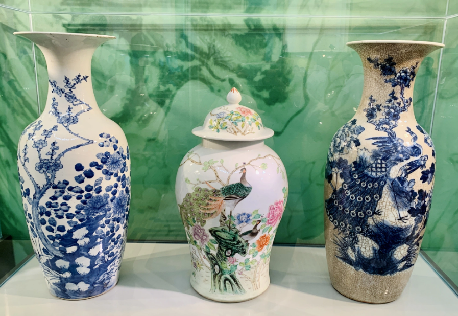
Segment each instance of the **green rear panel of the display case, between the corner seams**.
M363 89L356 39L441 41L440 19L185 17L34 14L36 31L117 36L92 60L95 96L123 127L132 152L129 239L185 240L175 201L191 129L226 104L232 86L275 136L266 144L287 168L290 198L279 243L323 243L323 176L329 142ZM439 52L416 78L417 118L431 124ZM40 101L47 75L37 52Z

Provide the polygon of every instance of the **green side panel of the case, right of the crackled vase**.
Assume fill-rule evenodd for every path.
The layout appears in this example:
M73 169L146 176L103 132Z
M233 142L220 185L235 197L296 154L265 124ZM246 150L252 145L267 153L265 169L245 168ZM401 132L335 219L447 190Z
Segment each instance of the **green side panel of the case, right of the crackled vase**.
M447 21L438 96L431 137L435 141L437 172L434 198L422 248L458 284L458 18Z

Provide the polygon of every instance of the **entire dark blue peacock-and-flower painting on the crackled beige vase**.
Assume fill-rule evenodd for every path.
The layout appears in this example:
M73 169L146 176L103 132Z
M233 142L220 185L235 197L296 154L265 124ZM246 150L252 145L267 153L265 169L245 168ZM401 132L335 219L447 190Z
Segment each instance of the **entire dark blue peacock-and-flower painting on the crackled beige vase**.
M418 136L410 127L404 132L410 141L398 138L401 114L412 105L412 98L404 97L411 87L418 62L396 70L396 62L388 56L383 62L370 59L380 70L384 82L393 88L384 103L369 97L367 122L385 136L371 137L373 147L361 147L359 134L365 129L353 119L341 128L331 142L326 165L326 180L332 193L325 201L328 220L335 231L336 255L356 270L372 275L393 275L413 266L422 239L430 208L431 190L415 190L416 183L432 184L435 164L428 164L428 155L418 143ZM424 143L432 141L420 126ZM348 145L350 144L350 145ZM357 150L354 161L348 161L347 150ZM433 151L433 156L435 153ZM414 176L417 170L421 177ZM417 173L418 174L418 173ZM385 212L394 210L395 222Z

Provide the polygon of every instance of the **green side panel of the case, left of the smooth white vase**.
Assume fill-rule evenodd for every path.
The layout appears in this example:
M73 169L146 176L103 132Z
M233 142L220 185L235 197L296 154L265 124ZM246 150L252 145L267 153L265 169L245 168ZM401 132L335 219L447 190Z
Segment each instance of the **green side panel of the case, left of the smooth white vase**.
M32 44L13 35L28 29L28 14L0 7L0 279L32 251L16 152L22 130L38 117L37 89Z

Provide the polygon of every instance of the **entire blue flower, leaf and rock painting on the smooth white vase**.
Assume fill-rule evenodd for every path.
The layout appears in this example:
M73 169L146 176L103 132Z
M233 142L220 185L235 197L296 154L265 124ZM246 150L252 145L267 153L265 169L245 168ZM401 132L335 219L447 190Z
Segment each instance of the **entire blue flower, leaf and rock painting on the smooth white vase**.
M97 147L101 152L92 162L63 164L64 156L82 159L85 155L77 149L98 145L72 130L80 116L92 109L75 93L87 78L77 75L70 80L65 76L63 87L50 80L53 96L49 114L55 121L46 129L42 129L45 124L41 120L30 124L22 132L22 136L27 134L27 141L20 141L23 145L17 152L21 194L35 254L50 290L64 299L97 296L115 285L131 198L129 147L124 149L114 136L100 134L107 144ZM56 97L68 103L66 110ZM80 142L62 148L66 144L61 141L62 132L67 139L70 136ZM59 137L55 137L57 133ZM73 175L67 177L70 172Z

